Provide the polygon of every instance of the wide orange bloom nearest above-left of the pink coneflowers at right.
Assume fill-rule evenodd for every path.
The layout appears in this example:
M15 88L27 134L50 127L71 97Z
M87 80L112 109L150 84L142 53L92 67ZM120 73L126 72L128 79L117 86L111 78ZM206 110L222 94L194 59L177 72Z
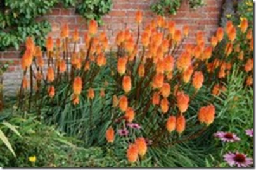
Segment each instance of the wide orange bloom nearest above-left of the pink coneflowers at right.
M198 113L198 120L200 123L205 123L207 126L212 124L214 122L215 118L215 107L210 104L205 107L201 107L199 113Z

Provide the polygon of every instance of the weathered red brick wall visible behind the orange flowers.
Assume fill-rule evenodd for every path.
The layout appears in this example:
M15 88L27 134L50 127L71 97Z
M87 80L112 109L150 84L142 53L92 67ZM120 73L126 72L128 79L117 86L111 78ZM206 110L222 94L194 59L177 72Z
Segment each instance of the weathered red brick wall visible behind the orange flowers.
M110 43L115 40L118 30L130 28L136 32L136 24L134 16L137 9L143 11L143 24L148 23L153 18L153 13L150 10L150 4L157 0L113 0L112 11L104 16L104 25L99 28L99 31L105 30L108 33ZM205 0L206 6L198 9L190 9L187 1L183 1L177 15L169 16L169 20L176 21L177 27L182 28L184 24L189 25L191 30L188 42L193 42L193 37L198 30L205 32L205 37L208 39L215 32L219 25L221 15L222 0ZM48 20L52 25L52 32L49 35L58 37L60 28L63 23L68 23L70 32L75 27L79 28L80 44L82 37L87 29L87 21L79 15L75 15L75 9L54 8L52 13L39 18ZM208 40L207 39L207 40ZM0 52L0 61L13 60L14 64L10 66L8 73L4 73L4 87L6 94L16 92L15 89L20 83L22 73L20 70L20 52L13 49Z

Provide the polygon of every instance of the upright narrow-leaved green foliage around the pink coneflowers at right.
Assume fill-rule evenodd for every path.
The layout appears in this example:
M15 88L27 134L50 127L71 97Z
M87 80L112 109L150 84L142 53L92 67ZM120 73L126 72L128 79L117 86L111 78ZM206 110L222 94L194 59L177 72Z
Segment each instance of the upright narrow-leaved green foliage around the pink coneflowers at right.
M245 77L245 73L234 69L227 79L223 97L216 97L220 110L215 121L216 131L235 133L241 140L224 143L215 139L217 152L207 157L210 167L229 167L223 159L227 152L240 152L253 158L253 137L245 133L245 130L253 128L253 88L243 86Z

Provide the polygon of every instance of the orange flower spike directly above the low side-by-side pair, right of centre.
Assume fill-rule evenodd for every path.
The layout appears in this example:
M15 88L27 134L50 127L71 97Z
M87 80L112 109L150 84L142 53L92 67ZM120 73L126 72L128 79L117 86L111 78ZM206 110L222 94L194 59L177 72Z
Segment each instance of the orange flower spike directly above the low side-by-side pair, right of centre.
M184 113L188 110L189 106L189 96L184 92L177 92L177 107L181 113Z

